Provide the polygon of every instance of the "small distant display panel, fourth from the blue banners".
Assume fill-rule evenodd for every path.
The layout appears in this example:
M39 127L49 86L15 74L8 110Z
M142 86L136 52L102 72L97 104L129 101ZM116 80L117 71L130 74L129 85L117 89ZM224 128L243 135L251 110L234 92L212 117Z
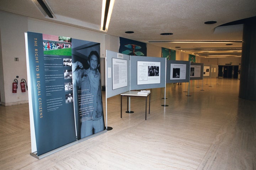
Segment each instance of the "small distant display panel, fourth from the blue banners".
M190 80L202 80L203 67L203 63L190 63Z

